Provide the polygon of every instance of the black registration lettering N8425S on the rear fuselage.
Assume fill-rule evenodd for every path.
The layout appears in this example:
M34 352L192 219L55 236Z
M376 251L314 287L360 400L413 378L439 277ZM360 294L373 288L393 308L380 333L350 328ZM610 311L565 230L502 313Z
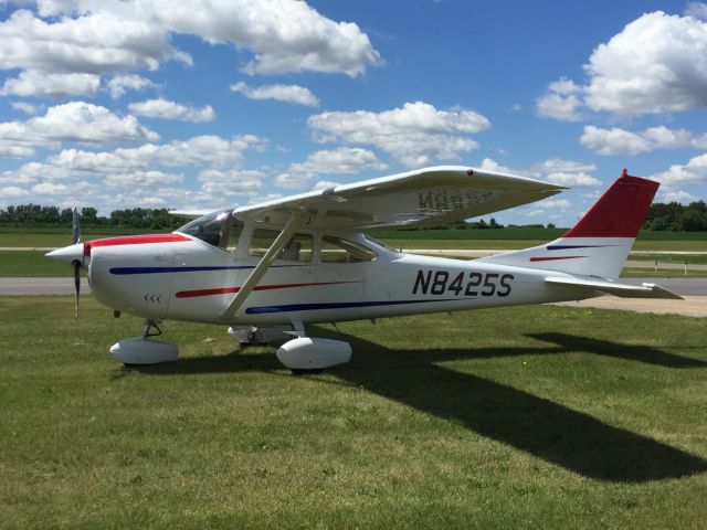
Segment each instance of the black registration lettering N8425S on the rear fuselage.
M449 271L418 271L412 294L444 295L453 293L455 296L508 296L513 274L497 273L458 273Z

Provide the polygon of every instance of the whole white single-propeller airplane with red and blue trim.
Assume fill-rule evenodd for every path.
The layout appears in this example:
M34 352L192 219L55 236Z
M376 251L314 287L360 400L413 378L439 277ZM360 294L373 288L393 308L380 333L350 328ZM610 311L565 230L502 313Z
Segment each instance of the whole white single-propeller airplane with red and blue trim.
M306 336L316 322L376 319L548 301L679 298L654 284L616 283L658 183L624 170L562 237L462 261L404 254L363 231L440 225L534 202L562 190L479 169L437 167L212 212L171 234L109 237L48 254L87 271L102 304L146 319L115 343L126 364L177 359L154 340L163 320L230 326L241 343L282 341L294 372L348 362L348 342ZM155 331L152 331L155 330Z

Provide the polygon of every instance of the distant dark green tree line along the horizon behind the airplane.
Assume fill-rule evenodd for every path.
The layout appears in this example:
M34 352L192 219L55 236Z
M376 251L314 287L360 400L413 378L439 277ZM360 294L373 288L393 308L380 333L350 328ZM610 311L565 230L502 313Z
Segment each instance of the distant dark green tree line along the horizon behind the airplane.
M72 211L68 208L42 206L39 204L22 204L0 210L0 226L46 227L71 226ZM98 215L95 208L81 209L81 225L85 227L105 229L150 229L175 230L184 220L170 215L167 209L134 208L131 210L115 210L109 216ZM542 226L542 225L538 225ZM443 226L447 229L449 226ZM494 218L487 223L481 221L454 223L456 229L503 229L503 224ZM549 224L548 227L555 227ZM651 205L643 223L643 229L672 232L707 232L707 204L705 201L692 202L683 205L678 202Z

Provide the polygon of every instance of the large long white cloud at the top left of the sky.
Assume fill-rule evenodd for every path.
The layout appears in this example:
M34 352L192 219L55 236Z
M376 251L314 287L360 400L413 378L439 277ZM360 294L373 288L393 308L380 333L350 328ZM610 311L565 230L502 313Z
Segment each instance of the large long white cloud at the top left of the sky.
M362 74L382 63L352 22L330 20L297 0L81 0L11 2L0 22L0 70L106 75L157 70L192 59L173 35L196 35L252 53L249 74ZM68 85L67 85L68 86ZM70 87L86 95L86 87ZM118 88L119 93L119 88Z

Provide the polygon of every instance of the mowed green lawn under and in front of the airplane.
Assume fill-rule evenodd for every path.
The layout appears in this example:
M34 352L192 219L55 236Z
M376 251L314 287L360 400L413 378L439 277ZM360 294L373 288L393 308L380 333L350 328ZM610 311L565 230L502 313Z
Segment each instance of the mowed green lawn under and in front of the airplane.
M2 528L704 528L707 320L536 306L313 327L291 375L223 327L181 359L89 297L0 298Z

